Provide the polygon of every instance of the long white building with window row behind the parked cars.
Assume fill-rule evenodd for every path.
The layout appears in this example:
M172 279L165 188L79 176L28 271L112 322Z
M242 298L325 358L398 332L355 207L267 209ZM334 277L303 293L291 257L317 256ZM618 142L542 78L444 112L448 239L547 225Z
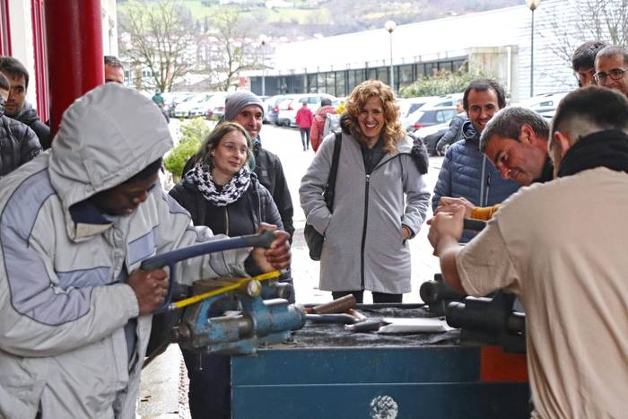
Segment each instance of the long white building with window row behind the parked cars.
M425 75L459 69L497 78L515 102L530 96L531 83L534 94L567 91L576 80L564 51L591 39L579 24L586 4L545 0L534 12L534 32L533 13L520 5L400 25L392 33L381 28L278 45L275 67L264 76L249 72L250 85L257 94L345 96L364 80L390 83L392 56L397 92Z

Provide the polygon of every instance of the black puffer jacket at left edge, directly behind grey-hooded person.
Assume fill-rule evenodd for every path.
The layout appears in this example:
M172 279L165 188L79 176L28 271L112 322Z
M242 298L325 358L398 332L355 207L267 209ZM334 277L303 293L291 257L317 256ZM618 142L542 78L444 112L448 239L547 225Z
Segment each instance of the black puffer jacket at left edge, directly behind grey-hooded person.
M31 128L0 114L0 177L9 174L41 153Z

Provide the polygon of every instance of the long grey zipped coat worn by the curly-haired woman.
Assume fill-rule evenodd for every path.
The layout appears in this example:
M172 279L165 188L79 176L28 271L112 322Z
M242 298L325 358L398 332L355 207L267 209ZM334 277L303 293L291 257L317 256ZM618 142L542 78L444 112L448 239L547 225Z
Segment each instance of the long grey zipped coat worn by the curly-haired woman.
M301 179L299 195L307 222L325 243L320 258L320 288L327 291L410 292L410 249L402 224L421 228L430 192L411 157L409 138L386 153L366 175L360 144L344 132L336 178L334 212L323 200L334 153L327 135Z

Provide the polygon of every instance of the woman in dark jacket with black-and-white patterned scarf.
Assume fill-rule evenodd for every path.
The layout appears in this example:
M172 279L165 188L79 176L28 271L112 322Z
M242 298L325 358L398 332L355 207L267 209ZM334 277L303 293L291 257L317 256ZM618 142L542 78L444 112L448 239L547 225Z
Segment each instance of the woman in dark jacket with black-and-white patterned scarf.
M249 169L251 153L249 134L240 124L218 125L201 145L196 165L170 196L189 211L196 225L206 225L214 234L254 234L259 223L283 230L273 197ZM182 352L192 418L231 417L229 356Z

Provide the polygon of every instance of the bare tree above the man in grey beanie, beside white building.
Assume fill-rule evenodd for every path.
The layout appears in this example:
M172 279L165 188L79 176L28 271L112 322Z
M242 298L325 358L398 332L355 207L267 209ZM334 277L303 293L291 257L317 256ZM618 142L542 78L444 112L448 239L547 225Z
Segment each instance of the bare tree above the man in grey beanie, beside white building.
M254 27L255 23L245 20L236 9L227 9L210 18L208 35L214 52L206 58L207 67L222 91L229 89L241 71L261 67Z

